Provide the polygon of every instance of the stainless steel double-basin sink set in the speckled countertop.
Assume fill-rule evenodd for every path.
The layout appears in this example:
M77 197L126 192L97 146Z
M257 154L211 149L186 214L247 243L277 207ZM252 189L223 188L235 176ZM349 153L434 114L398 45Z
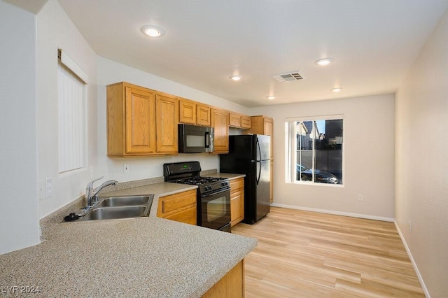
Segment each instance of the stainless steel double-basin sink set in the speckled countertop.
M100 199L80 220L117 220L149 215L154 194Z

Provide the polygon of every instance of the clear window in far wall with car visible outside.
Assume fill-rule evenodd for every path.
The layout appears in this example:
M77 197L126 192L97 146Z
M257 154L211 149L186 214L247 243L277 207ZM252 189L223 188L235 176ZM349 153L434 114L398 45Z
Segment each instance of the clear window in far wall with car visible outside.
M286 129L288 182L342 184L341 115L290 120Z

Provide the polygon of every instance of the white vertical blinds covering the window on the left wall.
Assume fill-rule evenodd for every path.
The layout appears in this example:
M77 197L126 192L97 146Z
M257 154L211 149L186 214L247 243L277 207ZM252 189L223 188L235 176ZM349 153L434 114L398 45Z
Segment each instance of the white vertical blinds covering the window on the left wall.
M85 86L71 70L58 63L59 173L84 166Z

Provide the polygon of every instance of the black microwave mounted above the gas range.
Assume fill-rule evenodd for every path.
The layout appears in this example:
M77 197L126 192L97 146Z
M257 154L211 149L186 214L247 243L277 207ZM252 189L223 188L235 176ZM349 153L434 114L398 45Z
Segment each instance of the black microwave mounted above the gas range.
M178 132L179 153L213 152L213 127L179 124Z

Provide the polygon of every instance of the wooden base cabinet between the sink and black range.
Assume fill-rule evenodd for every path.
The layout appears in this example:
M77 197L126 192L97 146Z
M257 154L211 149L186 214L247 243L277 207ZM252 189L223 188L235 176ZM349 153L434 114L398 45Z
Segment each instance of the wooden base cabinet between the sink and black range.
M166 218L167 220L196 225L196 190L188 190L186 192L160 197L157 216L159 218Z

